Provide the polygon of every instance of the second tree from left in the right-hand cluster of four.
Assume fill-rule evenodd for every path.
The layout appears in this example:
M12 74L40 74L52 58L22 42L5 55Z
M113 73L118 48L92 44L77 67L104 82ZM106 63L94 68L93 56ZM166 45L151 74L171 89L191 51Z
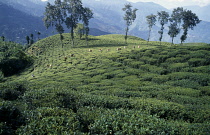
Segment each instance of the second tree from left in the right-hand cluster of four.
M164 25L168 23L168 20L169 20L168 12L166 11L158 12L158 21L160 22L160 25L161 25L161 29L160 31L158 31L158 33L160 34L160 38L159 38L160 44L163 38Z

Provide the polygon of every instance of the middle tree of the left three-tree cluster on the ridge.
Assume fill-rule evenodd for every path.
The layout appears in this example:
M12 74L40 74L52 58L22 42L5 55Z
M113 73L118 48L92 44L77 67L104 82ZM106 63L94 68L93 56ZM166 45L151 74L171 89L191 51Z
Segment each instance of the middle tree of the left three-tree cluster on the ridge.
M82 17L82 2L81 0L64 0L64 5L68 12L65 23L67 28L70 29L72 45L74 46L74 29Z

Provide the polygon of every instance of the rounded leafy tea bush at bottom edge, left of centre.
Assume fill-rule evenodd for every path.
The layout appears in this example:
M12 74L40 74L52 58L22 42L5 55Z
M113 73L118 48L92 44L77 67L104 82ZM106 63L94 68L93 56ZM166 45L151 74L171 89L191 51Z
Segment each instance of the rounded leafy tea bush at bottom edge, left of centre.
M71 110L61 108L38 108L28 112L28 121L18 130L21 135L78 133L79 122Z

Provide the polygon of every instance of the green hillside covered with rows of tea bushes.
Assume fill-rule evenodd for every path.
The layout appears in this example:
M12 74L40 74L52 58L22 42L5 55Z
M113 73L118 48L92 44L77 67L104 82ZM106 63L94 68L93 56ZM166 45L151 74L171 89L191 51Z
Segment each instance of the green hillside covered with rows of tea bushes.
M210 134L209 45L75 44L55 35L26 51L33 66L0 83L0 134Z

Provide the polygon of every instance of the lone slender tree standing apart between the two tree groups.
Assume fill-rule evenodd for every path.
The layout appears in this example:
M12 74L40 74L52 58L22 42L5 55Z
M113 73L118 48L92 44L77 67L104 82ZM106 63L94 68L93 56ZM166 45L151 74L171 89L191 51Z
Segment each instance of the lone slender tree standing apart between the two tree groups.
M136 9L136 8L132 9L132 5L129 3L129 4L125 4L125 7L122 10L125 11L125 16L124 16L124 20L126 22L125 43L127 44L127 37L128 37L129 27L135 21L135 19L136 19L136 11L138 9Z

